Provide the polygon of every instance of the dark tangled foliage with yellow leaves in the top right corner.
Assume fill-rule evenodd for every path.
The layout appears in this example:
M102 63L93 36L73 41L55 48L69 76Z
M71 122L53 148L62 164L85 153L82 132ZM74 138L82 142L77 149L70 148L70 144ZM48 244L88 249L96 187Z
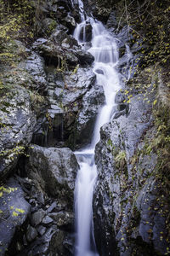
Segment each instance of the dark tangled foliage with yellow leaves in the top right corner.
M167 82L170 61L169 1L122 0L116 4L118 32L127 25L130 44L139 50L141 67L155 66L157 73L163 70ZM138 65L137 65L138 67Z

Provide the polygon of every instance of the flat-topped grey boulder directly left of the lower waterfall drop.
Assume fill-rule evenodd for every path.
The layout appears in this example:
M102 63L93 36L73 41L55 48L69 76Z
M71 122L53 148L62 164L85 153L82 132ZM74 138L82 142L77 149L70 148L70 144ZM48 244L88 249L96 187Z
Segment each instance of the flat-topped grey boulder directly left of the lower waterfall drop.
M57 196L59 202L65 202L68 208L72 208L78 164L71 149L34 145L29 154L26 172L34 179L37 189Z

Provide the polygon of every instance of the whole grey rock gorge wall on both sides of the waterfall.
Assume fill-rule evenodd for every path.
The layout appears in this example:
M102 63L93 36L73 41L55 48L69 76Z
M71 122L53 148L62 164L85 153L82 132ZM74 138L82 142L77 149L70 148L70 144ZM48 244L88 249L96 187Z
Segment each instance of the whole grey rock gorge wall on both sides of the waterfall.
M94 236L102 256L170 253L169 8L137 2L84 1L116 36L122 84L95 148ZM105 95L93 55L72 36L78 4L43 0L37 9L32 1L31 9L33 38L20 39L21 31L0 42L0 254L74 255L79 166L71 150L89 143ZM89 47L91 37L87 24Z

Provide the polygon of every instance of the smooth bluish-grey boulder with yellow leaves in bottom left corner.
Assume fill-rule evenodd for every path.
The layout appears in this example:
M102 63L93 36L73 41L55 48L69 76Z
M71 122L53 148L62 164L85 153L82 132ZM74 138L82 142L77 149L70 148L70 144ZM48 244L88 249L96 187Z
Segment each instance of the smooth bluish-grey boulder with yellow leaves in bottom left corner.
M14 178L9 178L0 190L0 250L4 255L15 231L26 221L30 205L24 198L24 192Z

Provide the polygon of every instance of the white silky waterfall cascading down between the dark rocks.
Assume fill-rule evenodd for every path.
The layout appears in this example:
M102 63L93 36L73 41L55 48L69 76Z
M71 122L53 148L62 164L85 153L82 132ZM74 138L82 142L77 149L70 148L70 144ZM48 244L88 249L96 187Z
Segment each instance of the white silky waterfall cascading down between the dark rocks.
M91 144L75 152L80 170L77 173L75 189L75 212L77 225L77 256L98 256L94 241L93 224L93 190L97 178L97 170L94 163L94 148L99 142L99 130L102 125L111 119L111 112L115 105L116 91L120 89L116 64L118 62L118 50L116 39L110 35L98 20L91 17L85 19L83 3L79 0L79 9L82 22L77 25L74 37L79 44L85 44L86 25L90 23L92 31L92 47L88 51L94 55L94 73L97 84L103 85L105 90L105 106L100 109L94 126L94 135ZM81 33L83 34L81 36ZM81 40L80 40L81 38Z

